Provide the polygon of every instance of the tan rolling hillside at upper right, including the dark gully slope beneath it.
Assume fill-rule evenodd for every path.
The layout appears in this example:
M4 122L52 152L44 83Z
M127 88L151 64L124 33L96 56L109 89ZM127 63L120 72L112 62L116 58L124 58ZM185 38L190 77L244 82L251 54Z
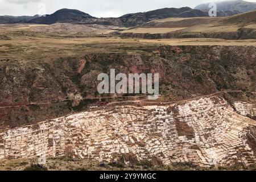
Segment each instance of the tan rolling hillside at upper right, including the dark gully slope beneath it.
M256 11L225 18L167 18L119 32L138 38L256 39ZM143 29L144 28L144 29ZM160 31L164 28L164 31ZM143 32L141 30L144 30Z

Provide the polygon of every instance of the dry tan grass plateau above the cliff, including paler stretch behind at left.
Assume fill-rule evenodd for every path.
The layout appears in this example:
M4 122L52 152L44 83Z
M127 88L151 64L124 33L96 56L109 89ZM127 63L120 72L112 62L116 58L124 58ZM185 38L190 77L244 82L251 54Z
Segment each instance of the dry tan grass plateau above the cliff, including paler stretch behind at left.
M61 27L66 27L67 31L58 32L57 30ZM112 27L90 26L87 28L88 29L82 29L80 26L72 26L71 24L54 24L51 26L36 24L1 25L0 63L5 59L48 62L59 57L82 56L89 52L133 52L133 50L137 52L136 47L143 46L256 46L255 39L134 39L120 38L109 34L114 31ZM41 32L39 32L39 30L41 30ZM84 33L80 34L80 30L83 30ZM140 30L146 31L147 28L141 28ZM154 28L148 28L148 30L154 30ZM73 33L70 34L68 31L73 31ZM154 32L158 31L164 32L167 31L167 29L156 28L156 30L154 30ZM127 47L129 47L129 50L127 50Z

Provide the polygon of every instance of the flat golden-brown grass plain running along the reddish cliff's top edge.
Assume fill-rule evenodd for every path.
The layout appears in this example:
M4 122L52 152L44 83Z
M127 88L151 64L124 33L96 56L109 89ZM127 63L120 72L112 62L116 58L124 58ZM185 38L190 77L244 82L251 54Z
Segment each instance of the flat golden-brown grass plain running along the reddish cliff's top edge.
M50 38L30 37L0 40L0 59L44 60L84 55L88 52L122 51L121 47L138 46L256 46L256 40L224 39L122 39L122 38ZM15 53L14 53L15 52Z

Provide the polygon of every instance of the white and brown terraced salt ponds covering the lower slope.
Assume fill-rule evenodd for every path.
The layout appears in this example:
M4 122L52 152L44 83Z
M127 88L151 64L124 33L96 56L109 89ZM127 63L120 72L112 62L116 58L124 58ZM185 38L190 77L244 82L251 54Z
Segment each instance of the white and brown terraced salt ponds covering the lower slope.
M0 159L46 154L99 162L122 159L126 164L250 166L256 159L255 127L253 119L236 113L220 96L170 105L109 106L1 130Z

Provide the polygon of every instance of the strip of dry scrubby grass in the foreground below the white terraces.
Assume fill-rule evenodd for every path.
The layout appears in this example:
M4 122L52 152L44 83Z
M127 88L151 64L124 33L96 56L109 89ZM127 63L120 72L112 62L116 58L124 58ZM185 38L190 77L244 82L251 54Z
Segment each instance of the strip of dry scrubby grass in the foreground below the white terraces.
M37 163L38 159L13 159L0 160L0 171L234 171L234 170L253 170L255 166L243 168L241 166L221 167L203 169L191 163L176 163L172 166L152 166L144 161L141 165L125 166L122 163L99 163L89 159L72 160L70 158L47 158L47 164L41 168Z

